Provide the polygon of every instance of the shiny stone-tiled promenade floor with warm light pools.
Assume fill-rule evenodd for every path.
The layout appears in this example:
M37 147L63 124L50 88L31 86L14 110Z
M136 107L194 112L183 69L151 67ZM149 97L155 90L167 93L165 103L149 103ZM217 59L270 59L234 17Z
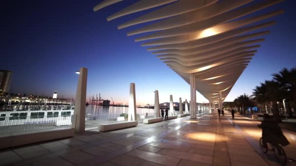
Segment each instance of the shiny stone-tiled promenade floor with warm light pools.
M273 153L259 148L258 121L217 113L189 116L102 133L0 151L8 166L277 166ZM284 132L284 147L296 159L296 133ZM289 162L288 166L296 165Z

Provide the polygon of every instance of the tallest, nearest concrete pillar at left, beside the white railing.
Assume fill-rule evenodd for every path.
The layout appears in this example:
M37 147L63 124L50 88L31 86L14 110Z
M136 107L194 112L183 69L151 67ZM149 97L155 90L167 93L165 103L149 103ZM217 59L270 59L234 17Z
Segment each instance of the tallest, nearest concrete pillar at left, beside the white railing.
M74 108L74 124L72 124L72 128L75 128L75 132L77 133L85 132L87 71L87 68L81 67L78 76Z

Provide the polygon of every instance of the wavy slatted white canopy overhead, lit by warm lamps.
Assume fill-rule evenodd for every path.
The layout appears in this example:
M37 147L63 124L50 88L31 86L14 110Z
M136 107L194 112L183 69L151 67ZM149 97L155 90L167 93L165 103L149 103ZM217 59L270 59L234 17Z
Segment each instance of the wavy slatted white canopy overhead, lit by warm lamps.
M120 1L125 0L103 0L93 10ZM217 101L220 91L222 100L225 99L250 63L259 43L264 41L260 36L270 33L258 31L275 24L275 21L264 20L283 13L277 10L247 16L283 0L252 1L138 0L107 20L157 7L119 25L118 29L153 21L127 35L145 33L135 41L149 40L142 46L151 46L147 50L157 54L187 83L190 84L189 74L194 74L197 90L206 99Z

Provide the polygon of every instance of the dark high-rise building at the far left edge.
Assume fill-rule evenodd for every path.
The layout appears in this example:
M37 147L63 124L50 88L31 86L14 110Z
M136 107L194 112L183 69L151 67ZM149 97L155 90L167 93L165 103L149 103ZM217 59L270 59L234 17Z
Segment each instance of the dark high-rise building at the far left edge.
M12 71L0 70L0 94L9 93Z

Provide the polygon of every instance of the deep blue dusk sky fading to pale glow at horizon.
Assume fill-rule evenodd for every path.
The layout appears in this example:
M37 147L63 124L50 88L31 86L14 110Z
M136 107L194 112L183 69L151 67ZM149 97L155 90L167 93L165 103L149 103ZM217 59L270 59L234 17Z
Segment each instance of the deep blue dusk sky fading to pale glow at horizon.
M74 71L89 69L87 99L101 93L103 99L127 102L129 83L136 83L137 104L154 102L155 89L160 102L189 100L189 85L155 55L134 42L126 33L139 26L118 30L117 25L147 11L117 18L106 17L136 0L125 0L101 11L92 8L101 0L7 0L1 4L0 69L14 72L12 93L52 95L74 98L77 75ZM2 2L3 3L3 2ZM255 57L240 76L225 101L238 95L251 95L252 89L271 79L283 67L296 66L295 1L286 0L256 12L277 9L285 14L268 20L277 24L263 30L265 42L260 43ZM253 15L252 15L253 16ZM265 22L265 21L264 21ZM198 102L205 102L200 94Z

